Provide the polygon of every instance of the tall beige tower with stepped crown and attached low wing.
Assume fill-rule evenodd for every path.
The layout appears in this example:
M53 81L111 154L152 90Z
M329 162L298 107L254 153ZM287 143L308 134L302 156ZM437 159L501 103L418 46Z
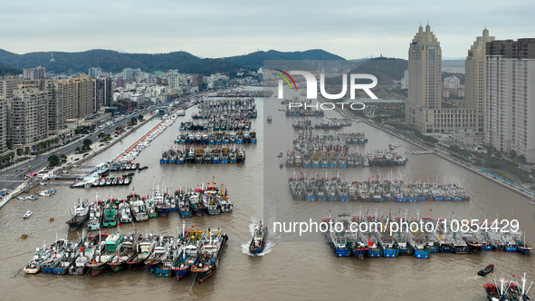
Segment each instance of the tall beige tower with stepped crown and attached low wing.
M406 122L425 133L450 133L473 128L471 108L442 106L442 50L429 24L420 26L408 50Z

